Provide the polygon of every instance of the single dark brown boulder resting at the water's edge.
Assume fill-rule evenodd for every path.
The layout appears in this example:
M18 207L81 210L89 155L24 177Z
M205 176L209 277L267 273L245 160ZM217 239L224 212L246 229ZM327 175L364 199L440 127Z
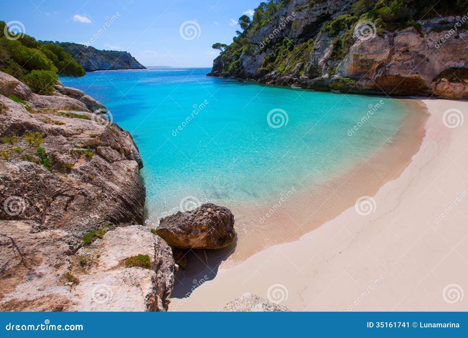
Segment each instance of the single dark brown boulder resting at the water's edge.
M234 240L234 215L225 207L205 203L162 218L156 233L176 248L219 249Z

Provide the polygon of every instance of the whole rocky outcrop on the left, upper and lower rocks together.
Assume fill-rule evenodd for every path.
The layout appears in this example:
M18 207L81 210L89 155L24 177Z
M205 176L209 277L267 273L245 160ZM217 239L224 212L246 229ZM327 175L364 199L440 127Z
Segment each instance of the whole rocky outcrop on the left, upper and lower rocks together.
M0 72L0 309L167 309L171 249L133 225L136 144L101 103L55 88L37 95Z

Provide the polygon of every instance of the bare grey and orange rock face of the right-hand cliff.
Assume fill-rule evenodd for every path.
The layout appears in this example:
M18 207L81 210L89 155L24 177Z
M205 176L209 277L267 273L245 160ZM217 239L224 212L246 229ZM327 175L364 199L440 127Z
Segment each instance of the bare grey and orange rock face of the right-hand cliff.
M448 83L436 81L439 74L448 69L468 66L468 45L465 43L468 30L456 26L456 17L421 20L417 22L417 28L410 26L363 37L355 32L351 42L346 40L344 53L336 55L333 41L349 32L346 29L331 32L323 28L338 16L353 14L354 2L336 0L309 4L307 0L296 0L282 4L268 23L257 31L248 31L249 55L242 54L238 58L235 54L221 54L209 75L352 93L433 95L446 99L468 97L465 81L468 79L457 79L456 82L452 79L453 82ZM288 22L285 19L288 16L293 16L294 20ZM266 37L270 41L265 50ZM308 59L303 58L299 69L288 66L289 59L283 60L281 65L275 61L280 52L275 46L282 43L283 38L292 41L294 47L311 43ZM352 43L351 47L349 43ZM221 60L224 71L220 67ZM268 62L265 64L263 60ZM345 81L333 80L333 77L345 78Z

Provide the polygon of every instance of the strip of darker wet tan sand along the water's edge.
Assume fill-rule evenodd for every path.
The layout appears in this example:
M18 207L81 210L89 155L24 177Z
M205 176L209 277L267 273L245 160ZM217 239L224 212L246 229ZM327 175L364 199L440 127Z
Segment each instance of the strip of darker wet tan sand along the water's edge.
M279 208L276 208L275 200L260 201L255 207L230 206L236 222L235 243L223 249L207 252L208 271L213 275L210 270L218 267L234 267L273 245L296 241L304 234L339 216L344 210L353 206L359 197L374 195L383 184L393 180L409 165L412 156L418 151L424 137L423 124L428 117L427 109L421 107L418 101L409 98L399 98L399 100L402 100L402 108L408 112L408 115L404 117L403 124L395 132L397 140L390 141L391 144L382 144L381 148L366 161L356 153L357 159L351 163L351 167L334 179L314 186L305 183L307 187L299 189L302 191L292 187L291 190L282 192L283 195L274 196L278 198L276 201L281 198L284 200ZM413 113L415 111L417 114ZM405 149L403 155L399 151L402 148ZM310 210L314 212L311 213ZM265 217L267 214L268 218ZM204 260L202 251L195 253L198 258ZM193 254L189 254L189 260L190 256ZM182 283L184 276L191 278L199 274L200 268L205 268L201 260L191 259L187 270L178 276Z

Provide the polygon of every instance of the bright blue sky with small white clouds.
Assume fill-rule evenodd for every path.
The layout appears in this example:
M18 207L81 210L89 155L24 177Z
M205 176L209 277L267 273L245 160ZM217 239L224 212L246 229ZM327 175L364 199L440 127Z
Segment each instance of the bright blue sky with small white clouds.
M0 20L21 22L25 33L37 40L127 50L146 66L211 67L218 54L211 45L231 43L236 29L240 29L231 19L237 22L260 2L0 0Z

